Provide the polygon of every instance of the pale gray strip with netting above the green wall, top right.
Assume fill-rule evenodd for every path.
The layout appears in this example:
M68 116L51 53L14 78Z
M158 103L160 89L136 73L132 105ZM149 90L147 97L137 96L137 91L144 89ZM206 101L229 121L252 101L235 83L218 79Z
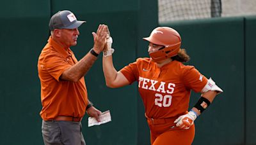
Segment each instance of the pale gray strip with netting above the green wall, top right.
M159 22L256 14L255 0L158 0Z

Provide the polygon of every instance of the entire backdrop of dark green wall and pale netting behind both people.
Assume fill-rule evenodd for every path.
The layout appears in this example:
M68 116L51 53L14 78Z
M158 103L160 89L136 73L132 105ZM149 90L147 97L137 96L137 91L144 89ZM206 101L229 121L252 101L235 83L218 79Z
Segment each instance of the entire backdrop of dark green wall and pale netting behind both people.
M182 36L182 48L207 78L223 88L214 103L196 121L193 145L256 144L255 0L12 0L1 1L0 13L0 144L44 144L40 118L40 81L37 60L49 38L49 18L71 10L86 24L79 28L81 59L93 45L92 32L108 24L113 37L113 60L121 69L138 57L148 57L146 41L152 29L169 26ZM149 145L149 130L137 84L107 88L102 58L86 74L93 104L110 110L112 121L87 127L88 145ZM200 95L192 93L191 105Z

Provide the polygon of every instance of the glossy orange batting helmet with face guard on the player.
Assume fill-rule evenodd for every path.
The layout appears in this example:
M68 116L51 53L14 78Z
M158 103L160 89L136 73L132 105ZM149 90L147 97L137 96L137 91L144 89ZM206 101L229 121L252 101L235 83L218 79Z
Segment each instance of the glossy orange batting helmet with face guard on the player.
M157 27L148 38L143 38L155 45L163 45L163 49L150 52L149 55L154 62L168 59L178 54L181 45L180 34L170 27Z

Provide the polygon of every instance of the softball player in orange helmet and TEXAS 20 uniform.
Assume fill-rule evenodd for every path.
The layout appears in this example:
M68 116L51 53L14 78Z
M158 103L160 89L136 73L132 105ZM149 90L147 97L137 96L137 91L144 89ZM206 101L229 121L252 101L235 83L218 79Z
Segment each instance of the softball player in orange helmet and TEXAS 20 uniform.
M106 85L118 88L138 81L151 144L191 144L195 136L195 119L223 91L195 67L182 64L189 61L189 56L180 49L181 38L174 29L157 27L143 39L149 42L150 58L137 59L120 71L113 66L112 38L108 39L103 53ZM188 111L191 90L202 95Z

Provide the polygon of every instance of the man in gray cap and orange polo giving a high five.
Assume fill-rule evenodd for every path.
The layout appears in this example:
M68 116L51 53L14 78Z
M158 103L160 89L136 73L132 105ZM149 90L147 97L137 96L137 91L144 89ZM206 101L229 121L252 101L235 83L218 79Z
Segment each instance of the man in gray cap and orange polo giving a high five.
M102 52L108 29L99 25L97 33L93 32L93 48L77 62L70 46L77 45L78 27L84 22L68 10L58 11L49 22L51 36L38 59L44 144L85 144L84 113L99 121L101 111L88 100L84 75Z

